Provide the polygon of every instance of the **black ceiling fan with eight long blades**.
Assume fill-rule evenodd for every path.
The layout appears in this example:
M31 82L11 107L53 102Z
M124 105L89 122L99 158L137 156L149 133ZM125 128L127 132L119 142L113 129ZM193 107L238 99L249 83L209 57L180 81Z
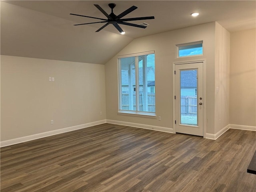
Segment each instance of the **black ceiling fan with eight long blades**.
M100 30L102 30L103 28L105 28L106 26L108 26L109 24L113 24L114 27L121 33L124 34L125 32L122 30L122 28L118 25L118 24L122 24L122 25L129 25L129 26L134 26L134 27L139 27L139 28L146 28L147 26L143 26L143 25L138 25L138 24L133 24L133 23L128 23L126 21L136 21L136 20L147 20L147 19L154 19L154 16L150 16L150 17L135 17L135 18L126 18L126 19L122 19L122 17L126 16L127 14L129 14L130 12L134 11L135 9L137 9L138 7L136 6L131 6L130 8L128 8L127 10L125 10L124 12L122 12L121 14L119 14L118 16L116 16L113 13L113 9L116 6L116 4L114 3L110 3L108 4L108 6L111 8L111 13L108 15L99 5L94 4L94 6L96 6L96 8L98 8L98 10L100 10L100 12L102 12L107 19L102 19L102 18L97 18L97 17L90 17L90 16L85 16L85 15L78 15L78 14L73 14L70 13L70 15L76 15L76 16L81 16L81 17L88 17L88 18L94 18L94 19L100 19L103 21L100 22L92 22L92 23L83 23L83 24L75 24L75 25L87 25L87 24L93 24L93 23L106 23L104 26L102 26L101 28L99 28L98 30L96 30L96 32L99 32Z

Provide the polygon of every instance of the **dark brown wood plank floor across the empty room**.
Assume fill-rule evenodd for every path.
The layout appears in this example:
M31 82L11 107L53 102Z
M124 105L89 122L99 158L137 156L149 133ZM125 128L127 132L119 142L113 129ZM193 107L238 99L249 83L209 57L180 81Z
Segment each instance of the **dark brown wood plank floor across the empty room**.
M255 192L256 132L217 140L102 124L1 148L1 192Z

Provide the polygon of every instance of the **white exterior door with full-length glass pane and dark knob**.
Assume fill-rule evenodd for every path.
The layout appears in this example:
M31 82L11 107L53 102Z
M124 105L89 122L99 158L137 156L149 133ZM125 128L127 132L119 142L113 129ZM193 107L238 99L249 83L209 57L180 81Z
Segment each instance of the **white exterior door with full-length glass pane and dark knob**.
M175 64L176 132L204 135L203 62Z

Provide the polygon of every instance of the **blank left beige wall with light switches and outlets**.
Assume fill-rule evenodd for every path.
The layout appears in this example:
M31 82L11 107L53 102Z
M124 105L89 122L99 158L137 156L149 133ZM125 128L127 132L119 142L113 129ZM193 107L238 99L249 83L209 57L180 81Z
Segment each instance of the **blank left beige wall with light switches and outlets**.
M1 56L1 141L104 119L104 65Z

